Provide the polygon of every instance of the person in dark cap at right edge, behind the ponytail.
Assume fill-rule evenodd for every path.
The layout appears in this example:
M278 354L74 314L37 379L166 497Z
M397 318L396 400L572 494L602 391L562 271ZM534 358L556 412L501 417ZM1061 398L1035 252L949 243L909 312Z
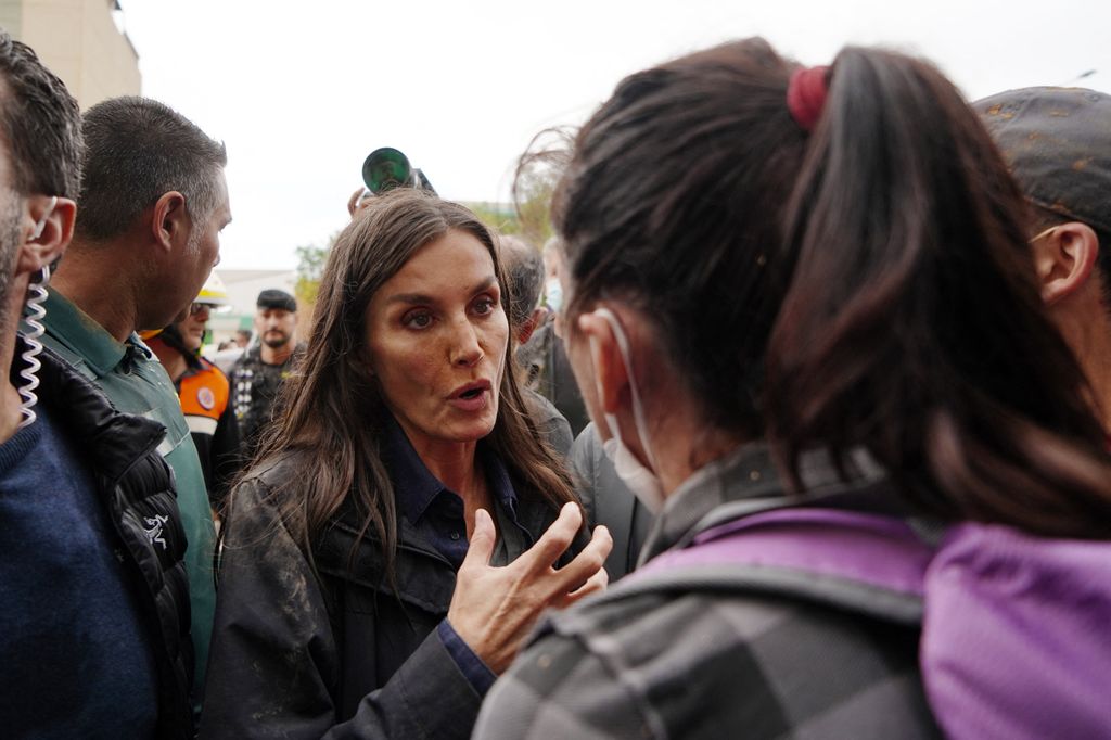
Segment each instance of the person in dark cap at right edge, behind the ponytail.
M1111 430L1111 96L1023 88L972 106L1032 204L1042 298Z

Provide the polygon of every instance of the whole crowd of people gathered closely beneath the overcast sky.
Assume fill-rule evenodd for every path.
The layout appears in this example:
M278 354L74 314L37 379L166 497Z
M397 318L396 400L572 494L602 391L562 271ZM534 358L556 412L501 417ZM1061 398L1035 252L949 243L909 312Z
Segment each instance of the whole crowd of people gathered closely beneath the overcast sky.
M1111 738L1111 96L701 50L209 359L224 147L0 79L6 736Z

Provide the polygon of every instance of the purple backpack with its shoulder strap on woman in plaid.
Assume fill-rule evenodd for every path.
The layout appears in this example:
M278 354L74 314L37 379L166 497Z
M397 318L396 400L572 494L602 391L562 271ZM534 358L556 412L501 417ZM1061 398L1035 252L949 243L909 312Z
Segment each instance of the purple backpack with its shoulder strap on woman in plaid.
M707 588L920 623L949 738L1111 739L1111 542L965 522L931 548L898 519L778 509L699 533L610 593Z

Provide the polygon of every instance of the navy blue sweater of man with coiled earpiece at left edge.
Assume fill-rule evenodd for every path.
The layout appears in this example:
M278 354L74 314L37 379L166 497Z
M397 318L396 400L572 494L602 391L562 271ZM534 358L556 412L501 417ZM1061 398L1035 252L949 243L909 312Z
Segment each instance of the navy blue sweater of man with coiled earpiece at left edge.
M154 659L107 502L38 410L0 444L0 732L150 738Z

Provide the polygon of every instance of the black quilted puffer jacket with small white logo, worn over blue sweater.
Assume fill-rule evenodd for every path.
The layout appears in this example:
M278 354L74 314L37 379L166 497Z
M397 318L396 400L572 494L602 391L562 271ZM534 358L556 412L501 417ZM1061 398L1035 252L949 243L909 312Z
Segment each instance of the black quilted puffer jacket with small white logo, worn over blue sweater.
M166 429L157 421L117 411L99 388L49 349L43 349L39 360L40 403L52 410L52 418L87 452L97 491L118 536L117 557L130 571L141 621L150 631L158 676L157 737L191 738L193 653L186 532L172 473L156 451Z

